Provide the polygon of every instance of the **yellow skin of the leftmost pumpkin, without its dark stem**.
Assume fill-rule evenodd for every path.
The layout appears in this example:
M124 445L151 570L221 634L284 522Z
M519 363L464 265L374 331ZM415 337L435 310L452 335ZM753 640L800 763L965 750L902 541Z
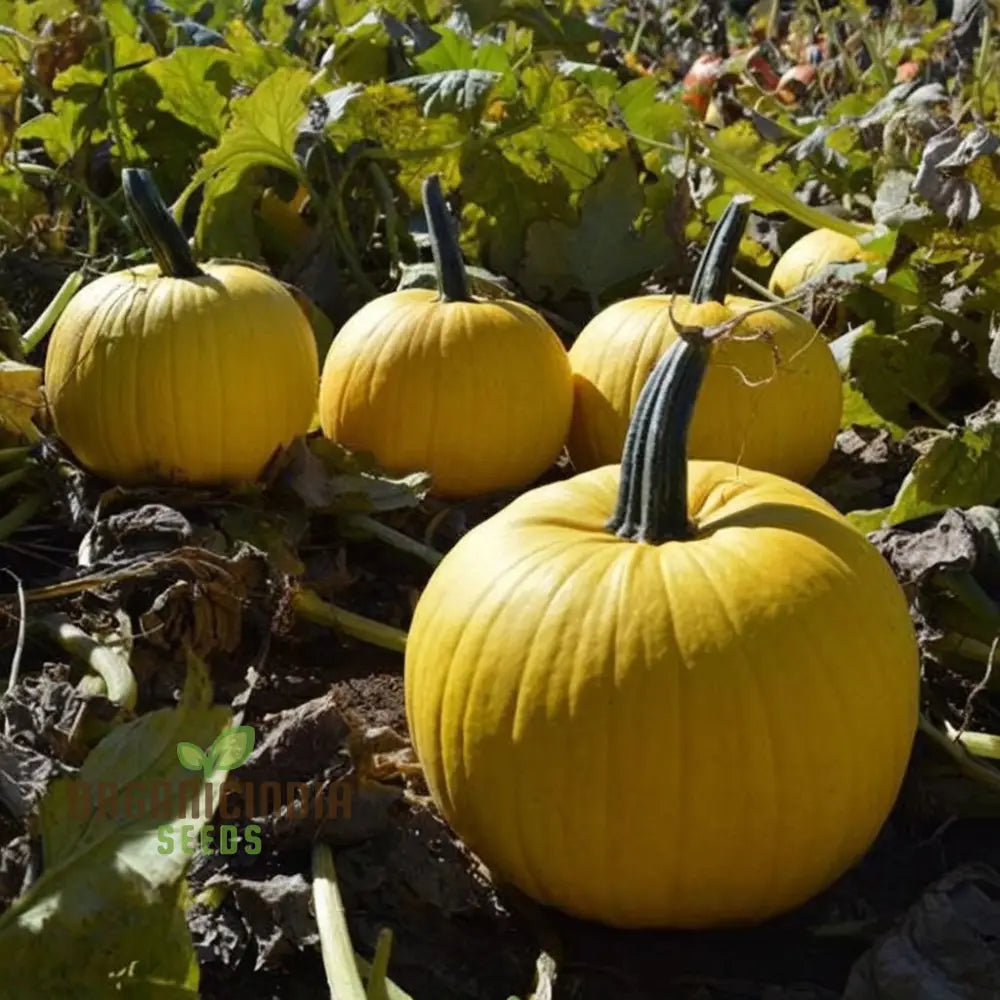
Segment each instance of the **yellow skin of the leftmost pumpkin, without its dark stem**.
M319 359L288 291L253 268L148 265L85 286L52 331L56 431L118 482L251 481L312 419Z

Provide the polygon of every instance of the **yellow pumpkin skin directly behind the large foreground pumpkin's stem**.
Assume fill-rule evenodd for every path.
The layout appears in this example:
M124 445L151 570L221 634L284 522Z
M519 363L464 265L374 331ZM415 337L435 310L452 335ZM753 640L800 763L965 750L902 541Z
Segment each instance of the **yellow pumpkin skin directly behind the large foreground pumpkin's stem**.
M656 362L676 340L671 296L625 299L604 309L569 351L575 401L569 453L580 471L621 460L628 422ZM680 322L718 323L760 303L729 296L693 306ZM750 339L769 331L770 339ZM712 352L688 437L692 458L737 462L808 482L840 429L843 389L829 346L804 319L767 311L747 318Z

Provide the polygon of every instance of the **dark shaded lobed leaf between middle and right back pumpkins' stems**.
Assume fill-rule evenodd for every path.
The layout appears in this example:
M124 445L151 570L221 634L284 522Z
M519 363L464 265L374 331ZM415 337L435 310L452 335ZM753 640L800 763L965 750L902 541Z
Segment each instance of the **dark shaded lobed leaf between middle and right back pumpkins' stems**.
M678 267L681 254L662 218L640 228L642 188L627 156L608 165L584 192L580 221L536 222L528 229L521 283L535 299L562 298L571 289L593 297L649 272Z

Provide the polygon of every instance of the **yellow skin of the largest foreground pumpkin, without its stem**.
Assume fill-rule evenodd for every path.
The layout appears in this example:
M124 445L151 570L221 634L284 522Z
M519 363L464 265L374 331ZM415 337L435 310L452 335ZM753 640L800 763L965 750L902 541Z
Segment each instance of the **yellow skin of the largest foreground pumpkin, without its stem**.
M543 903L752 923L818 893L897 795L918 651L886 563L804 487L691 462L694 540L604 529L619 469L473 529L417 605L405 690L440 811Z

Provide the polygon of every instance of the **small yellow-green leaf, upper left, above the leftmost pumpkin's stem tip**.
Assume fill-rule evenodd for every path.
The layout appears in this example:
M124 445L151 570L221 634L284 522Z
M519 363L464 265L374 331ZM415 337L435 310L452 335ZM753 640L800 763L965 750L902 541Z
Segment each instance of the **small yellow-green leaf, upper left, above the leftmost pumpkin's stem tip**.
M233 57L212 46L184 46L154 59L143 72L160 88L157 107L212 139L222 135L233 89Z

